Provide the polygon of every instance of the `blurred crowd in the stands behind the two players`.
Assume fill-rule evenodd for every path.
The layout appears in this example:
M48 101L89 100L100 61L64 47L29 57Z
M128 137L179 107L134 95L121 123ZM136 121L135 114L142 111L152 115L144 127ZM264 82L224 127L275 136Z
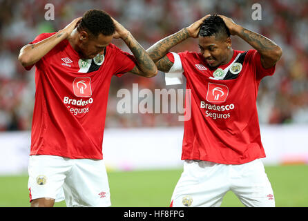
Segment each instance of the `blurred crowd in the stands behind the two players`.
M55 6L55 19L46 20L46 3ZM261 20L253 20L253 3L262 7ZM273 77L265 77L260 84L258 113L261 124L308 123L308 1L273 0L100 0L46 1L0 0L0 131L31 128L35 101L35 68L23 69L17 60L19 50L41 32L55 32L88 9L108 12L122 23L144 48L189 26L207 14L222 14L235 23L275 41L283 50ZM249 50L251 46L232 37L233 48ZM113 41L129 52L121 40ZM173 51L197 50L198 41L187 39ZM164 85L164 74L146 79L126 74L113 77L110 86L106 127L180 126L178 114L117 112L117 91L153 91L162 88L183 88ZM142 98L140 98L142 99Z

